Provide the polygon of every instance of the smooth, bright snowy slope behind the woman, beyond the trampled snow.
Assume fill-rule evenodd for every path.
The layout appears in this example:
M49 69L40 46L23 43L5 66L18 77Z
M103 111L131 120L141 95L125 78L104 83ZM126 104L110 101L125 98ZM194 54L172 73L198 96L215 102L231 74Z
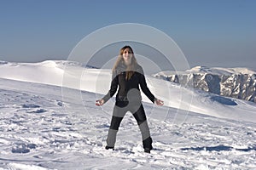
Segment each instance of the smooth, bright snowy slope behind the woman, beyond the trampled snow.
M107 94L111 71L88 69L72 61L44 61L41 63L8 63L0 65L0 77L75 88L96 93L98 98ZM241 121L256 122L256 107L239 99L230 99L183 88L175 83L147 76L148 88L165 101L166 106ZM62 90L65 94L65 89ZM143 101L149 99L143 95ZM218 109L216 109L218 108ZM178 113L179 110L177 110Z

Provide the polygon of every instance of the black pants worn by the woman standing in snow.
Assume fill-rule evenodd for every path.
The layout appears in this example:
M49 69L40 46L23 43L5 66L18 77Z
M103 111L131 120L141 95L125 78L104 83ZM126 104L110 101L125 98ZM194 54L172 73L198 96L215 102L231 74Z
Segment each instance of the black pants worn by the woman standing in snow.
M150 137L148 122L145 115L143 105L140 102L129 103L129 102L116 102L113 107L113 116L108 131L107 145L113 147L116 141L116 135L119 130L119 125L122 122L125 113L131 111L135 117L137 124L140 128L143 138L143 148L152 149L152 139Z

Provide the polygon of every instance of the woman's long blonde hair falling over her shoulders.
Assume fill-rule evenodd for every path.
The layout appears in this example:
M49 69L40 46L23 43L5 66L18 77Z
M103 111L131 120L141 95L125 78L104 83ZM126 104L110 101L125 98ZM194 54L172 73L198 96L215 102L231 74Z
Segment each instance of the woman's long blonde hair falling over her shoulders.
M133 50L130 46L126 45L125 47L121 48L120 49L120 52L119 52L119 56L118 56L118 59L116 59L114 65L113 65L113 69L112 71L116 71L116 69L118 68L118 66L121 64L121 63L124 63L124 59L123 59L123 54L124 54L124 51L126 48L129 48L130 51L131 51L131 54L132 54L132 57L131 57L131 64L130 65L127 65L127 68L126 68L126 74L125 74L125 79L126 80L129 80L132 75L134 74L134 71L136 69L136 66L137 66L137 59L135 58L135 55L133 53Z

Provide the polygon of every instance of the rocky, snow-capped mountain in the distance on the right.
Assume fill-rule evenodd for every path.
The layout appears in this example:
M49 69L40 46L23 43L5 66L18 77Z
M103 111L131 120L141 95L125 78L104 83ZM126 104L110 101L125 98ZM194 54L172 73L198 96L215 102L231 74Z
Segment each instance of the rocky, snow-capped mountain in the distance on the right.
M256 71L247 68L196 66L183 72L163 71L154 77L212 94L256 102Z

